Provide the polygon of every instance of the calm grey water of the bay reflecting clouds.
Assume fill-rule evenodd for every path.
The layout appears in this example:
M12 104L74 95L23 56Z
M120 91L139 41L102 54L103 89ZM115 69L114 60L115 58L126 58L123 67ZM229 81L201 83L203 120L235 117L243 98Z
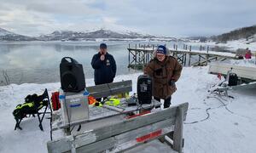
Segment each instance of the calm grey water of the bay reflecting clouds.
M97 53L100 42L0 42L0 85L4 85L3 70L11 83L60 82L59 65L62 57L69 56L84 66L86 78L93 77L90 61ZM117 63L117 75L133 73L127 68L128 44L163 44L174 42L107 42L108 52Z

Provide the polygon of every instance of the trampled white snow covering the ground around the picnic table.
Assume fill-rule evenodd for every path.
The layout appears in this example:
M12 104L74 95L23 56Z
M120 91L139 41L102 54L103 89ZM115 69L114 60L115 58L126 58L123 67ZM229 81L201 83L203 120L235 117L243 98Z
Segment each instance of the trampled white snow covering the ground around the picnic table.
M183 137L186 153L254 153L256 152L256 89L231 91L234 99L209 94L207 90L218 82L216 76L207 74L208 67L185 67L177 82L177 92L172 96L172 105L189 102L187 121ZM136 92L140 73L118 76L115 81L131 79ZM86 80L87 86L93 79ZM38 128L38 119L29 118L21 122L23 130L14 131L15 119L12 111L22 103L27 94L42 94L44 88L56 91L60 83L12 84L0 87L0 152L47 152L49 120L44 120L44 132ZM227 105L224 107L224 105ZM206 111L208 110L208 111ZM207 118L207 112L209 118ZM202 122L197 122L201 121ZM195 123L193 123L195 122ZM134 152L169 152L159 141L151 142Z

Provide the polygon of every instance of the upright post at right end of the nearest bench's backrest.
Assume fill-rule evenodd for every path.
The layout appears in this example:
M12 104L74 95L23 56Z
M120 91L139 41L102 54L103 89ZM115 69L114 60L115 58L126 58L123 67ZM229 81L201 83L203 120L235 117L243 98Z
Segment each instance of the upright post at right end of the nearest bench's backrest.
M177 107L177 117L173 133L173 149L178 153L183 150L183 107Z

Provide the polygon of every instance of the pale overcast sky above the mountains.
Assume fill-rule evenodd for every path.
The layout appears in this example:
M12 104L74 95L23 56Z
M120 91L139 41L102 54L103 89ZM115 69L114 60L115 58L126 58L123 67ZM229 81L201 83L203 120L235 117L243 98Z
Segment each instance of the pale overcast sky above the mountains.
M99 28L212 36L256 25L256 0L0 0L0 27L27 36Z

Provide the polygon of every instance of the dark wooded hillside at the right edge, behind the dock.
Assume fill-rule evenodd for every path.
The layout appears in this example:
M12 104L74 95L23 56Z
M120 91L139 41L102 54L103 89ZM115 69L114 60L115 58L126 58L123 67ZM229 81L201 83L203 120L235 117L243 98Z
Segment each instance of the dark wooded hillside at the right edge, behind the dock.
M247 27L242 27L218 36L212 36L210 38L216 42L227 42L227 41L238 40L238 39L254 40L255 35L256 35L256 26L247 26Z

